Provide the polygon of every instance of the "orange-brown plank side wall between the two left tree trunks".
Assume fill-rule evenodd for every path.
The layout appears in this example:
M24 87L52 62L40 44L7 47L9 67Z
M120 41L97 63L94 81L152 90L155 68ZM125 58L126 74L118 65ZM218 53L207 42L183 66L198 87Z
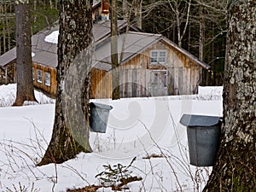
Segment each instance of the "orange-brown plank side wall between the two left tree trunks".
M55 94L57 92L56 69L53 67L45 67L37 63L33 63L32 67L34 68L34 77L33 77L34 87L37 88L38 90L42 90L48 96L55 97ZM39 83L37 81L37 70L41 70L43 73L42 83ZM49 85L45 84L44 73L50 74Z

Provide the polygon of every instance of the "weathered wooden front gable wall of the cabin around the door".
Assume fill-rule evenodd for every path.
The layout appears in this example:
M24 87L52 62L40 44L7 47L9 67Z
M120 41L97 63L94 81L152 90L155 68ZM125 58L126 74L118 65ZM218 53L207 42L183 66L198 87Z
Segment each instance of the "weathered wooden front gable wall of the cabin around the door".
M166 49L166 64L151 65L150 53L155 49ZM168 44L158 42L120 67L120 96L195 94L200 70L201 67L188 57Z

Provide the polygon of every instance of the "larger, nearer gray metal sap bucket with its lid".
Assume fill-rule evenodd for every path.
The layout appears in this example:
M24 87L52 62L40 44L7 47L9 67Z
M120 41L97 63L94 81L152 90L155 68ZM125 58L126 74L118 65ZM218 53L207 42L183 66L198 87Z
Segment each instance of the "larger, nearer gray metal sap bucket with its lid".
M221 117L183 114L187 126L189 160L193 166L213 166L220 143Z

